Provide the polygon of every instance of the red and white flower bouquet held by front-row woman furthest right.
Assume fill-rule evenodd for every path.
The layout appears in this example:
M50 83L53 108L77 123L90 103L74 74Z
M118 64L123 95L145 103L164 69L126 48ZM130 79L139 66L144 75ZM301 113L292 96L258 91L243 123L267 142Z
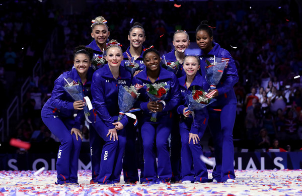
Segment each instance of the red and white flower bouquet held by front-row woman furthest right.
M195 86L193 86L192 91L185 95L186 103L188 105L188 109L185 111L185 113L189 113L189 111L193 112L193 110L201 110L205 106L216 101L215 99L211 98L211 96L209 98L207 94L208 93L205 90L195 90Z

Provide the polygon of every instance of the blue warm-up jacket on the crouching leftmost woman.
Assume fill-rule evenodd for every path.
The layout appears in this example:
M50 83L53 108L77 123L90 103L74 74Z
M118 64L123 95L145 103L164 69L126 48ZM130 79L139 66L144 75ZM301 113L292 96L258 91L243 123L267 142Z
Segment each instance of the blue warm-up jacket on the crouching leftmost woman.
M89 68L87 73L87 80L86 83L82 85L82 88L84 90L84 95L89 96L90 99L92 99L91 96L91 81L92 81L92 75L93 70L92 68ZM63 88L65 84L64 78L70 77L74 81L78 82L78 80L81 80L78 72L76 69L72 69L71 71L66 71L62 73L54 82L54 88L51 93L51 97L47 100L45 103L41 116L42 117L53 117L58 116L61 118L69 118L73 119L73 102L74 100L72 97L66 92ZM81 124L85 121L85 114L84 110L77 110L78 115L74 118L74 128L80 129Z

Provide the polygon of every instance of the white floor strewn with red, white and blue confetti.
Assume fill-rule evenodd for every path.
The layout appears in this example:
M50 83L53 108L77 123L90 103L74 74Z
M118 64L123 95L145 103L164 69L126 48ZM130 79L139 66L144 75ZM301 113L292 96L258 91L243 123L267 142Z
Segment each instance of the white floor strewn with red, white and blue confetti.
M302 169L236 170L235 183L199 184L90 184L90 172L79 170L79 184L56 185L54 170L0 171L0 195L302 195Z

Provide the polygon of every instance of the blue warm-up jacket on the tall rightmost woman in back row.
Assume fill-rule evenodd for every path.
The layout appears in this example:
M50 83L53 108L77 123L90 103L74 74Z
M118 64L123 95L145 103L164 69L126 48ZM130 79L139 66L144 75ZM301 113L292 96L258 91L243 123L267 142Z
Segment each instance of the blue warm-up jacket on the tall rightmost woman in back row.
M237 104L236 95L233 90L233 86L239 80L235 60L228 50L221 48L220 45L215 42L213 42L213 44L214 48L208 54L204 54L203 51L201 51L201 55L199 56L202 76L205 76L205 66L207 66L206 60L208 60L210 63L213 63L213 59L210 59L210 57L212 58L215 55L215 57L229 58L230 61L228 67L224 68L223 70L220 82L216 85L218 96L215 97L215 99L217 101L213 102L210 107L224 106L226 104Z

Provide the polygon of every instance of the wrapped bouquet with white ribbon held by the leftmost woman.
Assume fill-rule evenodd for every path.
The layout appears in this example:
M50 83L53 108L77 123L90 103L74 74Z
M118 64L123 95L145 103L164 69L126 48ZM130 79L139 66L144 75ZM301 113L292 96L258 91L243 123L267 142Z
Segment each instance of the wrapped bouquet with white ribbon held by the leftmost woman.
M67 79L64 78L65 84L63 86L64 90L68 92L68 94L72 97L74 101L84 101L85 106L84 106L84 113L85 113L85 118L89 123L92 123L88 117L90 116L90 110L92 109L92 104L90 102L90 99L88 96L85 96L83 93L83 88L82 85L80 85L80 82L76 82L70 77Z

